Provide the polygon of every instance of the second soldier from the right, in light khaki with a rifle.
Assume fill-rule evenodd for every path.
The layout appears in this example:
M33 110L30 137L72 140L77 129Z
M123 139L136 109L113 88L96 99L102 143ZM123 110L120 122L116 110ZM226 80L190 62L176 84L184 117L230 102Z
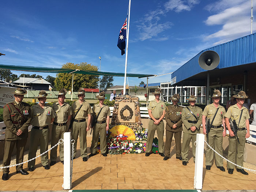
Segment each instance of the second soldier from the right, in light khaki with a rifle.
M225 126L225 119L224 116L226 114L226 110L223 106L219 105L219 101L221 100L221 91L215 90L212 95L213 103L207 105L204 108L203 116L202 116L202 123L203 123L203 133L206 135L206 117L210 119L210 125L212 124L210 131L208 133L208 144L214 148L219 154L223 155L223 147L222 141L223 137L226 136L226 126ZM218 109L218 112L217 112ZM217 112L214 121L213 117ZM223 127L222 125L223 124ZM223 129L224 128L224 129ZM210 147L206 147L206 169L211 170L211 166L213 164L213 155L214 151L211 150ZM225 172L225 168L223 167L223 159L219 155L215 154L215 162L217 168L221 171Z

